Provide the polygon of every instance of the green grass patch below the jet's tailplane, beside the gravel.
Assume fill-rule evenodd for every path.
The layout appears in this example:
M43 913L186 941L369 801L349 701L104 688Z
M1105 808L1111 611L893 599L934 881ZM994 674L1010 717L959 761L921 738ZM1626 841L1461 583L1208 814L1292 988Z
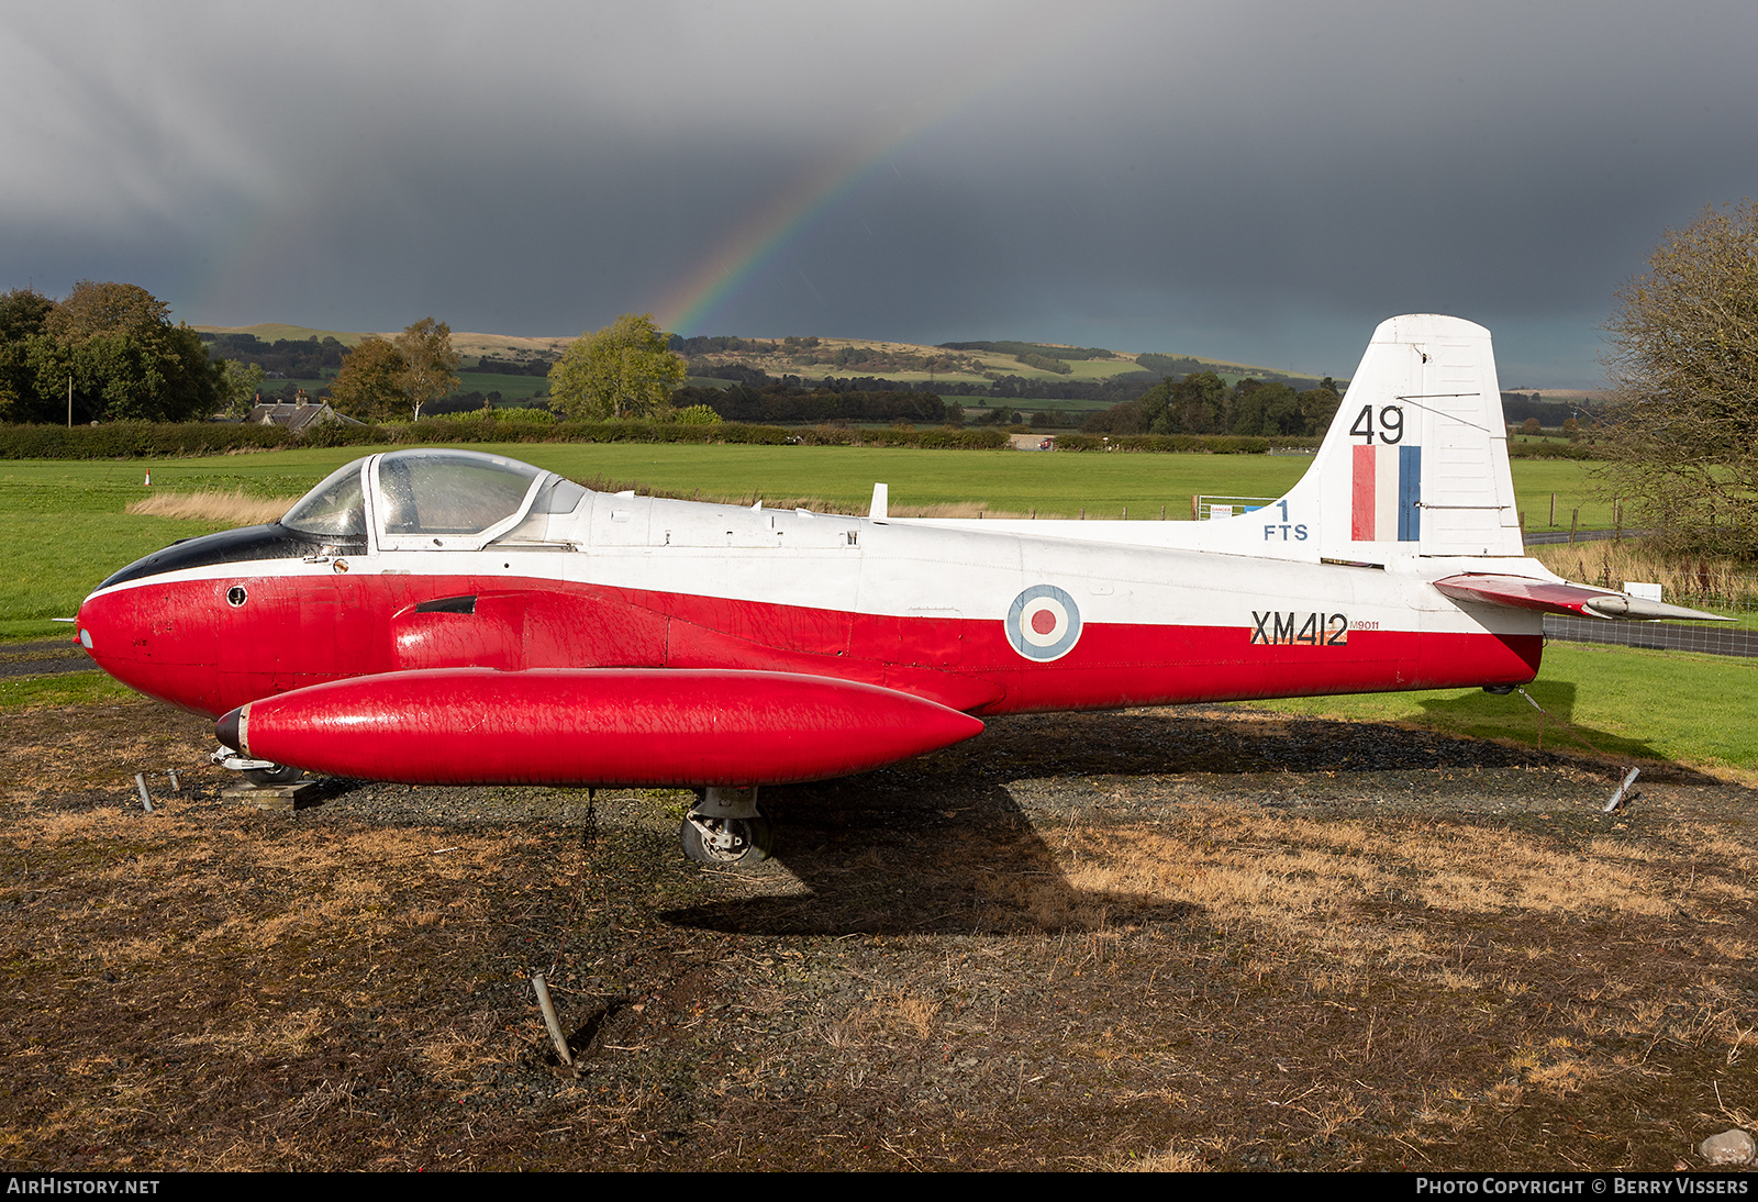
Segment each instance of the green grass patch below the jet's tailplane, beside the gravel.
M1542 736L1547 750L1598 750L1616 757L1742 771L1758 768L1754 659L1551 643L1538 680L1526 691L1554 717L1542 715L1517 692L1498 698L1482 689L1252 705L1282 713L1410 722L1526 747L1538 747Z

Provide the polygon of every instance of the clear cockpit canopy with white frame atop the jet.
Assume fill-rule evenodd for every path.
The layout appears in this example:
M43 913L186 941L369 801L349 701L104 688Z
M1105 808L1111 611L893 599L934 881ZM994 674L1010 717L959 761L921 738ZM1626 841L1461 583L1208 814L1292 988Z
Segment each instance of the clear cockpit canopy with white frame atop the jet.
M366 543L371 527L383 548L471 550L501 538L545 541L547 517L571 511L584 496L580 485L517 459L399 450L338 469L281 525L325 543Z

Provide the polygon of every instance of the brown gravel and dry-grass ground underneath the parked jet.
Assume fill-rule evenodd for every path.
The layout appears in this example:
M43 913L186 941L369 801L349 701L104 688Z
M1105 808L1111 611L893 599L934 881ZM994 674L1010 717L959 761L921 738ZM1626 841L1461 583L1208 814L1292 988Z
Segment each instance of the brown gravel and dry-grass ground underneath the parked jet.
M733 872L680 793L260 812L151 703L0 729L9 1169L1674 1169L1758 1111L1754 798L1682 766L1020 717L766 791Z

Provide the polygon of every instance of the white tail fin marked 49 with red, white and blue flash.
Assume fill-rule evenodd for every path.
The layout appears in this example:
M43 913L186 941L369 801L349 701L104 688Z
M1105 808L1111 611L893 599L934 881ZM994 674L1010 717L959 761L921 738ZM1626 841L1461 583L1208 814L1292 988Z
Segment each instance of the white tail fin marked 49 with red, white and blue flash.
M1327 559L1524 555L1489 330L1433 313L1380 322L1287 499L1317 510Z

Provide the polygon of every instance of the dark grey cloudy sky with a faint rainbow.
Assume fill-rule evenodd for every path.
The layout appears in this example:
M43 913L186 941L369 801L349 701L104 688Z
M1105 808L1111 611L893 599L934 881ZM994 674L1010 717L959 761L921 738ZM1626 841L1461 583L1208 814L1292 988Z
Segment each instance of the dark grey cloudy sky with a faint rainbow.
M1030 339L1347 376L1758 195L1758 5L0 2L0 290L197 325Z

